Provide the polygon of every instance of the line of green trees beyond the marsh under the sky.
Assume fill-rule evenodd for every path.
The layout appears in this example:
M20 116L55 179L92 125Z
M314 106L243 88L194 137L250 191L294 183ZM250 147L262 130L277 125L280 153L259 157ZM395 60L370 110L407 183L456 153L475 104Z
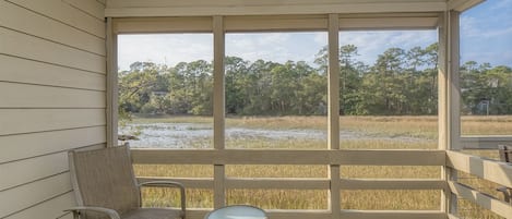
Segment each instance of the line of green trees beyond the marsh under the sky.
M358 48L340 48L340 114L436 114L438 45L389 48L373 64ZM124 113L211 115L213 65L197 60L175 66L135 62L119 76L119 110ZM511 114L512 69L469 61L461 65L465 114ZM325 114L328 49L314 63L225 58L225 108L234 115Z

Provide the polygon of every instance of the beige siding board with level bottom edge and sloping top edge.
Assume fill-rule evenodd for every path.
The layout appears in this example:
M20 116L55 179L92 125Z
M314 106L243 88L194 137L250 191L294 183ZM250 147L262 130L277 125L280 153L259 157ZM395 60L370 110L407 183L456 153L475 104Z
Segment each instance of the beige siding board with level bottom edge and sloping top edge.
M0 82L0 108L105 108L105 92Z

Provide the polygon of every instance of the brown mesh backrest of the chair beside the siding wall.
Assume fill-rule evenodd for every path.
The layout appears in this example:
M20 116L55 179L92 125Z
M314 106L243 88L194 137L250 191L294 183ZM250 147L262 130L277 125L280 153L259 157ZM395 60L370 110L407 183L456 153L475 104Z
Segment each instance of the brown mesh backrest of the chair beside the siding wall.
M106 207L119 214L140 207L128 146L70 151L69 161L79 206ZM105 217L88 212L85 218Z

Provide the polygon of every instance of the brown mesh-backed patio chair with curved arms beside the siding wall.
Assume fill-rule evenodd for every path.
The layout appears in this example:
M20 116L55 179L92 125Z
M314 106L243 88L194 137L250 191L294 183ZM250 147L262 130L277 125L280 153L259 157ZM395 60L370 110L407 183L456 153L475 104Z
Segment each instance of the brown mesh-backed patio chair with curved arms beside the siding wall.
M184 219L182 184L169 181L138 183L128 146L69 153L71 182L78 207L74 219ZM178 187L181 209L142 208L141 186Z

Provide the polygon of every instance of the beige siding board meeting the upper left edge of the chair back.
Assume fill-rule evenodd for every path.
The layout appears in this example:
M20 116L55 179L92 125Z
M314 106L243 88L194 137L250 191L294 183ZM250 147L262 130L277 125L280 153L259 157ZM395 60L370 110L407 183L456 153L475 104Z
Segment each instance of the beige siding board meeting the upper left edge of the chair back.
M68 154L58 153L0 165L0 191L33 182L69 170Z

